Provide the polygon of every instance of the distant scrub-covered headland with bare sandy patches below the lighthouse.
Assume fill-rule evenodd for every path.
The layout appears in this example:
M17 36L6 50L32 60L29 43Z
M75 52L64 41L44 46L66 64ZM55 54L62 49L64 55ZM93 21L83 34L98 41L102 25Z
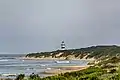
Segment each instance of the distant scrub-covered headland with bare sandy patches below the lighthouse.
M59 56L57 54L63 53ZM52 52L38 52L38 53L29 53L26 57L38 57L38 58L45 58L45 57L52 57L52 58L60 58L66 57L68 58L69 55L74 56L75 58L82 59L83 57L87 56L86 58L103 58L106 56L120 56L120 46L92 46L87 48L81 49L70 49L70 50L57 50Z

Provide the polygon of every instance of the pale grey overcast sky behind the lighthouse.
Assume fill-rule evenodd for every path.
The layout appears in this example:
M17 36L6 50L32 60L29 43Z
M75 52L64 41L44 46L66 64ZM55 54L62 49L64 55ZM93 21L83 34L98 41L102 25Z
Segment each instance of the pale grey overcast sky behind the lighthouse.
M0 52L120 44L120 0L0 0Z

